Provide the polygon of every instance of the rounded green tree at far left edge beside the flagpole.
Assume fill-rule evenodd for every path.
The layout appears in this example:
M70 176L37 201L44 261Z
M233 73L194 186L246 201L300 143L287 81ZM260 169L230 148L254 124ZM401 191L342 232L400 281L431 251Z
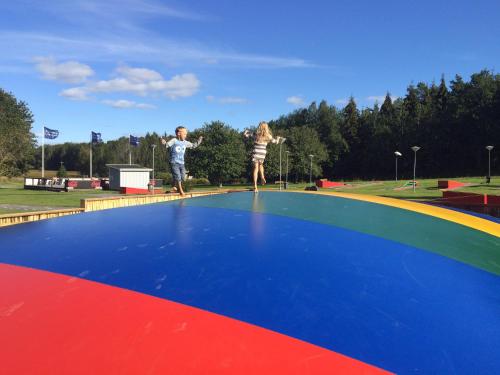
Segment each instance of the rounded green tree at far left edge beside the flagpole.
M28 105L0 89L0 176L18 176L29 169L35 150L32 124Z

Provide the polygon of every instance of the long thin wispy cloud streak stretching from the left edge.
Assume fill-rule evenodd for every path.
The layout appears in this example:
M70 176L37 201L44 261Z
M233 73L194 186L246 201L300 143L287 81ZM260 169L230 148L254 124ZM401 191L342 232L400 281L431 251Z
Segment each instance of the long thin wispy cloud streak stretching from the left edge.
M12 51L4 60L29 61L33 55L56 56L60 60L95 62L134 61L169 66L217 66L242 68L311 68L316 65L300 58L240 53L209 48L196 41L173 40L144 31L77 36L10 32L0 34L0 50ZM83 35L83 36L82 36ZM87 36L88 35L88 36Z

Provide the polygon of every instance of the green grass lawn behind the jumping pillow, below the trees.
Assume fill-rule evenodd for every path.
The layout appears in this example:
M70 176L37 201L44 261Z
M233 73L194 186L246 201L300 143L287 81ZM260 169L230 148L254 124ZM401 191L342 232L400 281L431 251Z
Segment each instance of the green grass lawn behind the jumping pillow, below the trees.
M445 179L445 178L440 178ZM480 194L500 195L500 176L493 177L491 183L485 184L482 177L451 178L455 181L468 182L473 186L464 187L456 191L473 192ZM397 190L408 180L402 181L352 181L346 182L346 186L340 188L320 189L321 191L337 191L353 194L380 195L401 199L433 200L440 198L442 192L437 188L438 179L417 179L418 185L413 191L409 186L407 189ZM289 190L302 191L309 184L289 184ZM246 185L224 185L222 189L246 189ZM277 184L268 184L261 187L262 190L276 190ZM192 191L217 190L219 187L204 185L195 186ZM0 214L36 211L44 209L80 207L80 199L92 198L99 195L118 195L115 191L102 190L75 190L66 192L24 190L22 180L0 180ZM3 206L3 207L2 207Z

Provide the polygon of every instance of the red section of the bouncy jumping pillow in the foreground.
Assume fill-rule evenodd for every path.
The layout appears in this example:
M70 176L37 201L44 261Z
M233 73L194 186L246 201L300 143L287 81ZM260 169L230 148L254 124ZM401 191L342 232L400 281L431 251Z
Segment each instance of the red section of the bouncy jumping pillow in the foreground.
M222 315L0 264L5 374L388 374Z

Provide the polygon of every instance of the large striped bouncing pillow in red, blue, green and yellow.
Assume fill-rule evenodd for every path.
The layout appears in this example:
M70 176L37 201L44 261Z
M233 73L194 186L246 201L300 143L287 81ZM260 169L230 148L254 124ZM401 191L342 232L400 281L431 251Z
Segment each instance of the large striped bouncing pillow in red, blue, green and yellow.
M230 193L0 230L3 374L500 374L500 224Z

